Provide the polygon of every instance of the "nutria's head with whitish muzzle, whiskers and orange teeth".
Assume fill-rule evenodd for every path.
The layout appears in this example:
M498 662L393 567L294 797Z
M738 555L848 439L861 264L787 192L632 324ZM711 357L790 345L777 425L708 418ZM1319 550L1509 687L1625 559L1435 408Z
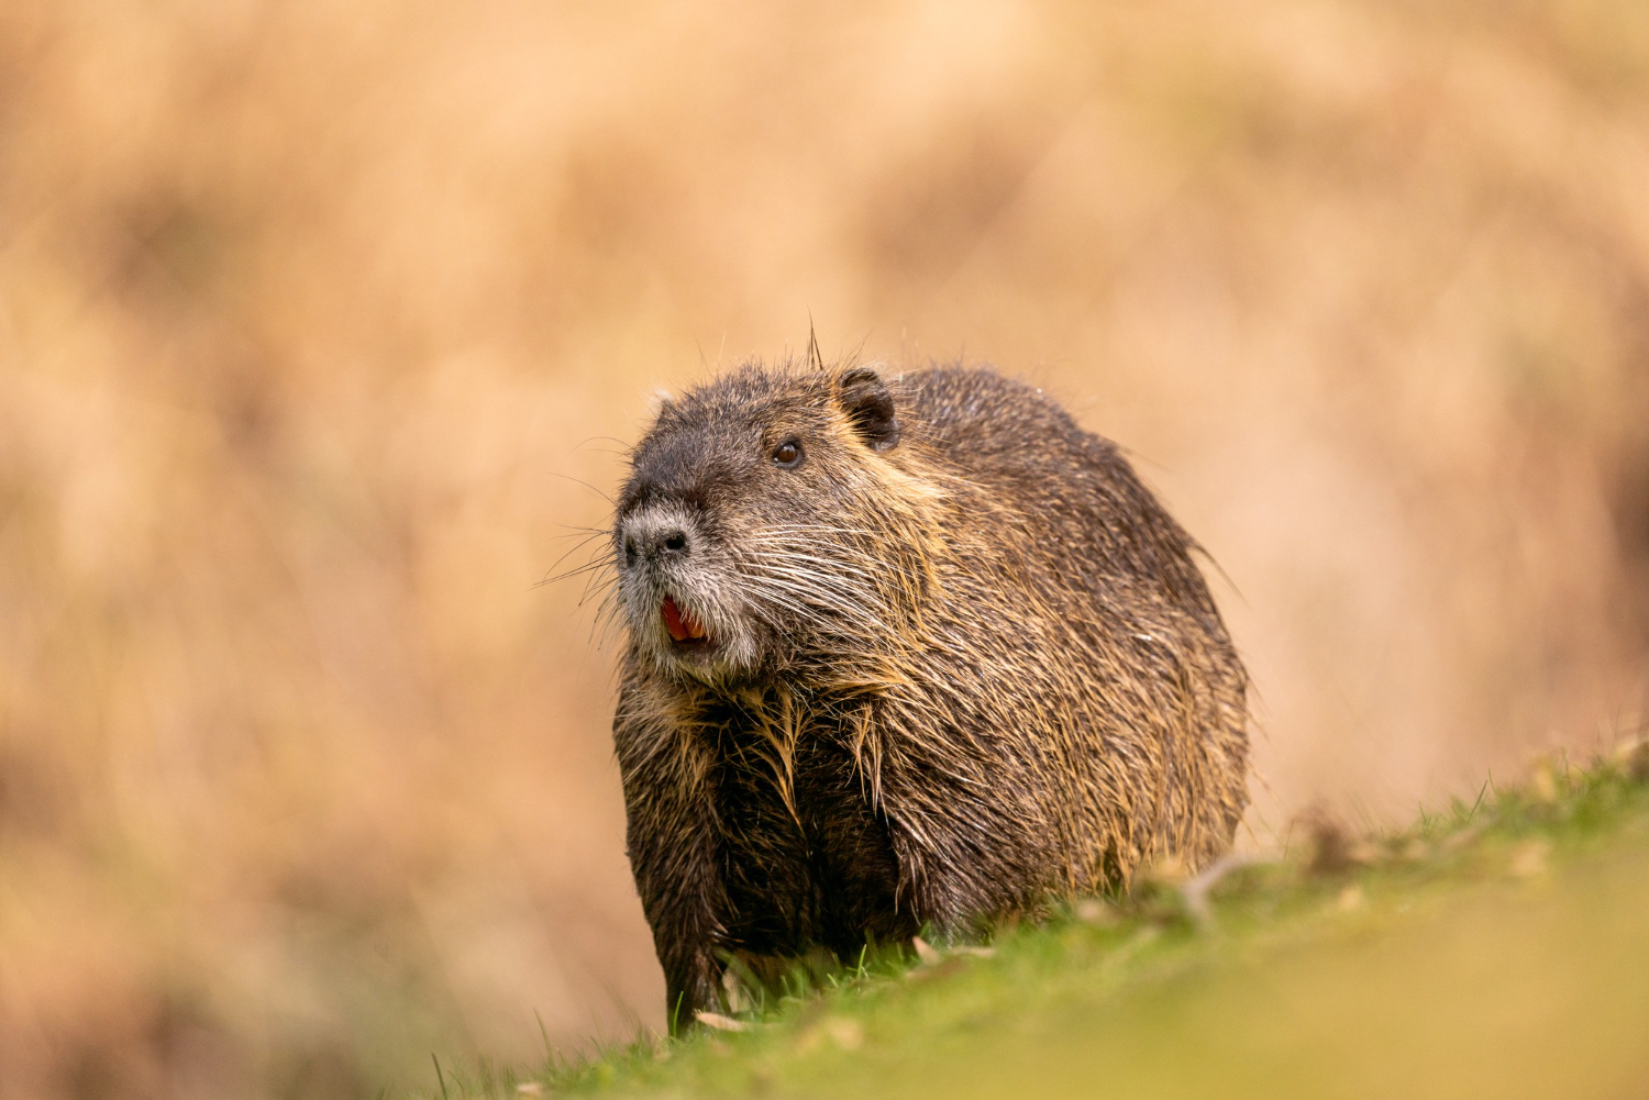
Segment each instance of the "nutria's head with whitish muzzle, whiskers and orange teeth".
M886 630L900 442L867 366L744 366L666 401L613 518L637 655L737 684Z

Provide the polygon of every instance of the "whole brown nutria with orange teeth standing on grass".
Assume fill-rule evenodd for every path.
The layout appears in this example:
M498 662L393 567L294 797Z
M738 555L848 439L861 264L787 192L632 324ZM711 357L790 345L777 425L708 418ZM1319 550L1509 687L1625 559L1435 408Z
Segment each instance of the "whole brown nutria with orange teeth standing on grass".
M1196 544L1041 389L739 368L663 404L612 538L673 1027L734 955L851 960L1230 844L1247 675Z

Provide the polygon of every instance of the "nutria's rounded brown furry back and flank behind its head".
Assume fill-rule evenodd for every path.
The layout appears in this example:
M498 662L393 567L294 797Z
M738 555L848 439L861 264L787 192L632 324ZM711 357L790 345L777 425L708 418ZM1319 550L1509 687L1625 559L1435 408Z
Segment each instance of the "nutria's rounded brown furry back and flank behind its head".
M1210 859L1247 806L1247 675L1191 538L1115 444L1032 386L930 368L895 391L960 500L918 701L894 724L1017 772L991 820L1036 874L1100 889Z

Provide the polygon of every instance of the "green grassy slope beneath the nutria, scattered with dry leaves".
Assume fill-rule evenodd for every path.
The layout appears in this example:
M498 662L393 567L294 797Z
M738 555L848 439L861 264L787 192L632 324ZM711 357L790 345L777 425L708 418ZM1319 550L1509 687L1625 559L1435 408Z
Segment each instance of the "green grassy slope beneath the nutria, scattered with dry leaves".
M449 1095L1649 1095L1649 749ZM1337 866L1336 866L1337 864ZM518 1085L518 1080L524 1082Z

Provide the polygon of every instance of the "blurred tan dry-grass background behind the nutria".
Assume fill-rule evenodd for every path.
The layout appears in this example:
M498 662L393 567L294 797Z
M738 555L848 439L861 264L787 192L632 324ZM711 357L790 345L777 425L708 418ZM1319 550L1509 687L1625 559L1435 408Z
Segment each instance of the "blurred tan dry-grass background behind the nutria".
M810 315L1138 455L1258 838L1637 721L1637 0L7 0L0 1095L656 1022L615 653L534 582Z

